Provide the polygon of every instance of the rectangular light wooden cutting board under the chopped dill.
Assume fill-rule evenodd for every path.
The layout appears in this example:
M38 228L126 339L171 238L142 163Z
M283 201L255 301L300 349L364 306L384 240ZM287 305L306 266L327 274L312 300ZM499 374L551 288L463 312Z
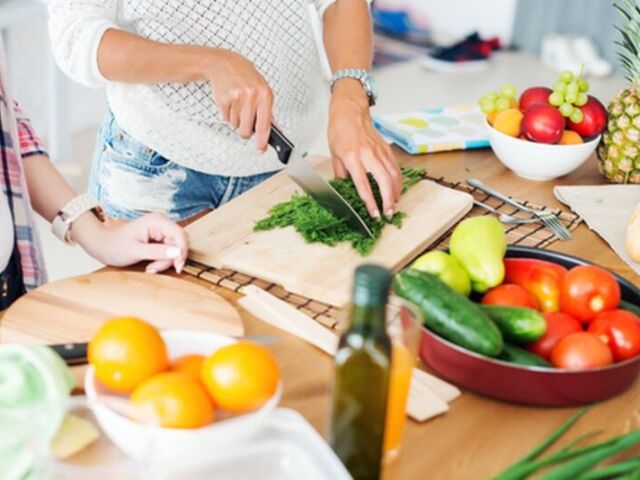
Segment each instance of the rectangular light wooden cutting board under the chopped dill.
M330 176L329 159L314 160ZM473 198L430 181L405 193L398 209L407 217L401 229L387 226L373 252L361 257L351 245L308 244L292 227L254 232L257 220L299 188L281 172L191 224L189 257L282 285L292 293L342 307L349 302L353 271L373 262L396 271L424 251L473 206Z

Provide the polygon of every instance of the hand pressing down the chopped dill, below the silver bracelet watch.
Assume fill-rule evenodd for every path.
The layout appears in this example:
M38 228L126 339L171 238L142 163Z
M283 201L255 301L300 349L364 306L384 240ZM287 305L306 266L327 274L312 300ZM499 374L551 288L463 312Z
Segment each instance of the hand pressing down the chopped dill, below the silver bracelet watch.
M391 148L373 126L362 86L350 79L336 84L329 109L329 148L337 177L353 179L369 215L380 217L367 174L380 187L386 216L395 212L402 193L402 172Z

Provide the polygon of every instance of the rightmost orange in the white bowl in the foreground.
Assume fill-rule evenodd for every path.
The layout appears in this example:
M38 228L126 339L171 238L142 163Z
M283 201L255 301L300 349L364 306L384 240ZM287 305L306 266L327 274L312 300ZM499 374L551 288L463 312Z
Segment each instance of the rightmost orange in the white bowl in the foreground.
M210 355L202 365L200 380L217 407L243 413L260 408L273 396L280 369L266 348L238 342Z

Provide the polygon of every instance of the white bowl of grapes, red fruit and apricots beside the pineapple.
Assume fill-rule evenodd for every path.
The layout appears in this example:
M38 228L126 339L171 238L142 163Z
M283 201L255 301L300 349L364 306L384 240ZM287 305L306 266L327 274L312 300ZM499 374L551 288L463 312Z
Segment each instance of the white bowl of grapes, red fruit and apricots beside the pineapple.
M607 126L605 107L588 90L581 76L567 71L553 89L532 87L518 98L506 85L484 95L480 108L498 159L531 180L552 180L580 167Z

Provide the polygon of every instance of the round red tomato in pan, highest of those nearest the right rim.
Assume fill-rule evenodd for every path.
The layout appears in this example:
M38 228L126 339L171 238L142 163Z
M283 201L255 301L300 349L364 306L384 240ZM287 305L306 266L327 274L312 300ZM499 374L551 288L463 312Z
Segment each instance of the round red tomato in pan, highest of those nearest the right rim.
M560 291L560 310L589 323L620 305L620 285L604 268L583 265L569 270Z

